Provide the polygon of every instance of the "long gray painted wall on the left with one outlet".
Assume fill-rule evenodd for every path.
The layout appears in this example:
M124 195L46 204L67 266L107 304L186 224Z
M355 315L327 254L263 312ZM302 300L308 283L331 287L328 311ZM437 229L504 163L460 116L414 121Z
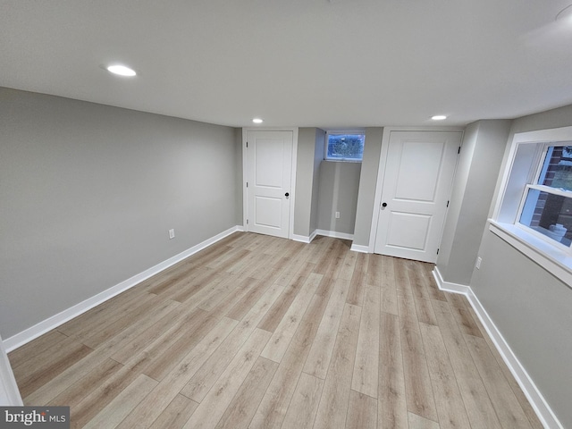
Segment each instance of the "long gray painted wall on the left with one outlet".
M232 128L0 88L0 130L4 339L241 218Z

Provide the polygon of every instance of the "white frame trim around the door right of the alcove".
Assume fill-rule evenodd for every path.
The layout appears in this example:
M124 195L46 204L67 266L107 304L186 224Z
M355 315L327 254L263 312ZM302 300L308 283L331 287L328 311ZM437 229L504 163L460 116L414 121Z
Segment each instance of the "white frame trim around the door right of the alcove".
M372 224L369 230L369 246L367 247L369 253L374 253L375 236L377 235L377 223L379 222L380 205L382 204L382 190L383 180L385 179L385 164L387 164L387 153L390 147L391 132L393 131L460 131L464 132L464 127L383 127L382 134L382 150L379 156L379 163L377 167L377 181L375 183L375 197L374 197L374 213L372 214ZM461 146L463 143L463 136L461 135ZM457 167L455 167L457 170ZM457 171L455 171L457 173ZM455 176L453 176L455 181Z

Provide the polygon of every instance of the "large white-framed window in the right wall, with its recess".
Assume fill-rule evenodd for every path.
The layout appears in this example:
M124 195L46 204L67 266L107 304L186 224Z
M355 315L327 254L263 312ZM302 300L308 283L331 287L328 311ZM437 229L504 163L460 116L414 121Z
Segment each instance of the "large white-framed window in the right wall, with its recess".
M514 135L489 229L572 287L572 127Z

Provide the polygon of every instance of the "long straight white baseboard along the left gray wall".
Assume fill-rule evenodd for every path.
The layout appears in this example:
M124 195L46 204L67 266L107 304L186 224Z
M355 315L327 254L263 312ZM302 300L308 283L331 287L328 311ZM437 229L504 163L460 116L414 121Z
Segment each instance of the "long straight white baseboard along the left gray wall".
M181 252L179 255L170 257L164 262L152 266L151 268L148 268L142 273L134 275L130 279L118 283L115 286L107 290L104 290L103 292L100 292L91 298L81 301L79 304L76 304L73 307L63 310L61 313L58 313L57 315L52 315L51 317L48 317L46 320L38 324L35 324L34 326L31 326L28 329L19 332L10 338L5 339L4 349L6 349L6 352L10 352L13 349L17 349L23 346L27 342L32 341L35 338L39 337L40 335L48 331L51 331L57 326L64 324L68 320L71 320L73 317L77 317L78 315L85 313L90 308L98 306L99 304L105 302L107 299L114 298L115 295L119 295L123 291L128 290L133 286L136 286L140 282L147 280L149 277L155 275L156 273L160 273L166 268L169 268L170 266L177 264L184 258L197 253L203 248L207 248L208 246L214 244L216 241L222 240L224 237L231 235L231 233L236 231L241 231L241 228L242 228L241 226L234 226L226 231L223 231L220 234L217 234L214 237L205 240L196 246L193 246L192 248L188 248L187 250Z

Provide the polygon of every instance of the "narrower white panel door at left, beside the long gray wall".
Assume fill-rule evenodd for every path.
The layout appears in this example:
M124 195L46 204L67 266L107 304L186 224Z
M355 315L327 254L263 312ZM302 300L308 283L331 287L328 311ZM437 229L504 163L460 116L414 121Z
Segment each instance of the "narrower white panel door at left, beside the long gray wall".
M247 132L247 231L289 237L292 131Z

